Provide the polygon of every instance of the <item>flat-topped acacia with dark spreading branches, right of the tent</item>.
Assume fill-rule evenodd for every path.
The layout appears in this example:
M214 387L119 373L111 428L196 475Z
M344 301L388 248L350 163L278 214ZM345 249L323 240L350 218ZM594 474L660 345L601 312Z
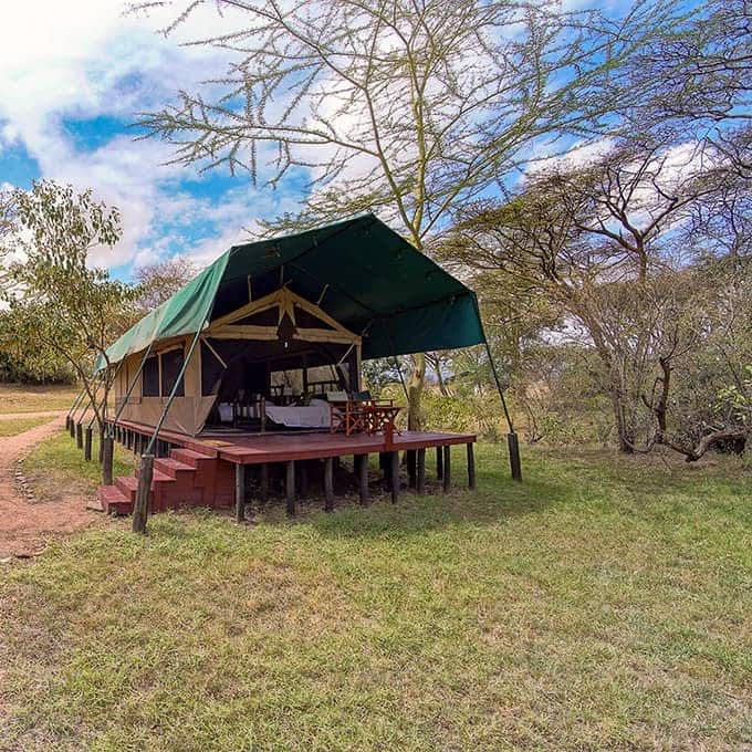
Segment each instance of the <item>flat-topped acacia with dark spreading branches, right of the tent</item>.
M458 223L445 258L542 294L600 358L623 451L645 430L643 398L660 357L683 353L671 232L718 190L712 171L680 169L665 147L624 145L578 170L555 168L509 202L481 205ZM691 168L690 168L691 167ZM679 342L679 341L682 342ZM668 344L667 344L668 343Z

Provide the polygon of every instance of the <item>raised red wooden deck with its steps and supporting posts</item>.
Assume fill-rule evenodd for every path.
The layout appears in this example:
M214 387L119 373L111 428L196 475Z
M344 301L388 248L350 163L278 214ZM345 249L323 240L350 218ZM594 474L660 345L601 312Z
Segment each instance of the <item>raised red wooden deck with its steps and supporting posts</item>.
M142 424L118 421L115 438L135 453L142 453L153 428ZM161 430L154 460L154 476L149 489L149 512L184 506L228 508L234 503L238 521L244 519L248 483L246 468L259 476L261 498L268 495L269 473L283 466L288 513L295 514L296 474L303 481L311 471L318 470L324 492L324 509L334 508L335 483L333 468L337 458L353 458L353 473L357 477L361 503L368 502L368 455L379 456L383 478L396 502L400 490L400 452L404 452L408 473L407 487L417 493L426 490L426 450L436 449L437 478L445 491L451 484L450 448L467 448L468 487L476 485L472 434L440 434L436 431L403 431L389 441L383 435L301 432L215 432L188 436ZM323 471L323 472L322 472ZM129 514L134 508L138 477L116 478L113 485L100 489L102 509L115 514ZM307 485L305 481L304 485Z

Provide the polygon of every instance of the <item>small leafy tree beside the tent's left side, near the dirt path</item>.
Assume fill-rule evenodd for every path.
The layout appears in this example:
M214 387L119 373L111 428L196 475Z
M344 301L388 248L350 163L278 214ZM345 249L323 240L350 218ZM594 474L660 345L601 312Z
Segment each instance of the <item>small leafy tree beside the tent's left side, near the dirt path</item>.
M133 291L87 261L93 249L117 242L119 213L91 190L76 194L50 180L15 191L14 200L19 260L9 264L15 289L6 293L14 336L70 364L102 432L115 377L106 347L133 320Z

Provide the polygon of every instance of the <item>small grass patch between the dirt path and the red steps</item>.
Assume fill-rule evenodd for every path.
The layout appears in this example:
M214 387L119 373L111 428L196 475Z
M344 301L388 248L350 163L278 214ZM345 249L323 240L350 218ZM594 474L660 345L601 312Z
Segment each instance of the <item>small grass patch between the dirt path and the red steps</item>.
M63 430L36 445L23 460L23 473L40 501L54 501L73 493L92 495L102 483L102 466L96 461L98 456L96 429L92 438L92 462L84 460L83 451L76 448L75 440ZM113 474L132 476L133 468L133 453L115 445Z

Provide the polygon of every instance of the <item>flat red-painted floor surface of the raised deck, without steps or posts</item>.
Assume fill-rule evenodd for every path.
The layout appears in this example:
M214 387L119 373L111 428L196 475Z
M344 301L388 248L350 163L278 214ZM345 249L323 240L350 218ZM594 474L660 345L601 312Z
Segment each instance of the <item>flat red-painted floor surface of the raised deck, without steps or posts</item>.
M150 435L147 426L119 421L124 428ZM200 451L210 457L236 464L259 464L311 460L348 455L375 455L383 451L428 449L448 445L474 443L472 434L439 434L436 431L403 431L395 434L391 446L386 446L384 436L367 434L227 434L222 436L186 436L161 430L159 438L169 443Z

